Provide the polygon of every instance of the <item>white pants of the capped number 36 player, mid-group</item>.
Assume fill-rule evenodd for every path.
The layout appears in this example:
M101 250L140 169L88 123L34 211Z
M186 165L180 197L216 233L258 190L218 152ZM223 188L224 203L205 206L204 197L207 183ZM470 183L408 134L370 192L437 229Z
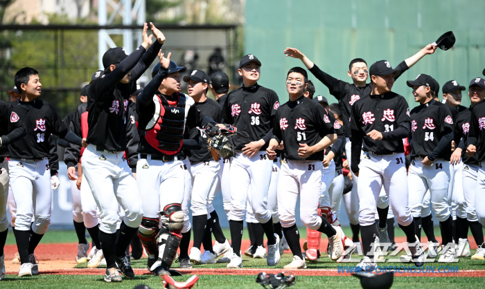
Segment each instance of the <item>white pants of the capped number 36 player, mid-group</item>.
M271 213L267 208L267 194L271 182L272 164L273 161L267 158L265 151L258 151L252 157L236 151L230 171L232 203L229 220L243 221L246 201L249 200L259 223L270 221ZM250 196L249 187L252 192Z

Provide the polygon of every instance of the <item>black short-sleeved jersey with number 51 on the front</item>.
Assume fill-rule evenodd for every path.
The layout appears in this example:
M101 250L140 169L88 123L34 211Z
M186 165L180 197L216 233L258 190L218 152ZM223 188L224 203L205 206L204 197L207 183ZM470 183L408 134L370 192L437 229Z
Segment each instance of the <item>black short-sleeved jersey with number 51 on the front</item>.
M273 138L283 141L283 158L289 160L324 160L325 151L313 153L308 158L300 158L300 144L308 147L317 143L329 133L335 133L334 123L321 105L301 96L298 100L288 101L276 111L273 122Z

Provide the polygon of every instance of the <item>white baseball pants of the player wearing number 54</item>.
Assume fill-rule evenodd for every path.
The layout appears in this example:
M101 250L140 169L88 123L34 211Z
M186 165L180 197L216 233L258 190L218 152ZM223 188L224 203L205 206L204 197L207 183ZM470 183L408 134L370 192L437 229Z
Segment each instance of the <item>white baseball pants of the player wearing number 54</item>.
M446 221L450 216L448 203L448 184L450 183L450 162L436 159L430 166L425 166L421 160L412 161L407 175L409 189L409 207L413 216L421 216L423 199L430 189L431 207L434 216L440 221Z

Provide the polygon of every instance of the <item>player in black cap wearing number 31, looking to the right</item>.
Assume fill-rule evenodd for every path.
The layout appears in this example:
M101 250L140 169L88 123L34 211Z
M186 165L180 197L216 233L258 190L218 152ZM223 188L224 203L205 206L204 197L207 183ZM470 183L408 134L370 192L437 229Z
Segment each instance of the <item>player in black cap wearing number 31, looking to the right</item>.
M362 270L372 270L376 266L369 258L369 252L377 233L374 216L382 187L389 198L399 226L406 234L412 259L416 266L421 266L425 256L407 204L407 182L402 182L406 179L403 138L407 137L410 131L409 108L404 97L391 92L394 77L399 75L400 71L393 69L389 62L381 60L371 65L369 74L372 91L370 95L353 104L351 116L351 169L356 176L360 176L359 222L365 255L358 267ZM364 151L362 162L361 149ZM387 218L387 214L385 217Z

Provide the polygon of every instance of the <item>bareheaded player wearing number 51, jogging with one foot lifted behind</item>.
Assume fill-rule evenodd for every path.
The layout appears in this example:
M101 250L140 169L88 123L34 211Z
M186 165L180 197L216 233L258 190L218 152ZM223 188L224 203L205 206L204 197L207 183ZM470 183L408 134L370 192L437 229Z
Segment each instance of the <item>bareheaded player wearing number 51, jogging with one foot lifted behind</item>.
M273 121L274 136L267 147L267 156L276 157L275 149L283 141L283 164L278 183L279 217L283 233L293 254L293 261L284 269L306 268L301 254L299 232L296 225L295 205L300 197L301 222L312 230L328 236L331 258L338 259L344 251L344 233L340 227L319 216L317 208L321 195L322 170L327 147L335 140L334 123L325 118L322 106L304 97L308 77L301 67L288 71L286 89L290 100L283 104Z

